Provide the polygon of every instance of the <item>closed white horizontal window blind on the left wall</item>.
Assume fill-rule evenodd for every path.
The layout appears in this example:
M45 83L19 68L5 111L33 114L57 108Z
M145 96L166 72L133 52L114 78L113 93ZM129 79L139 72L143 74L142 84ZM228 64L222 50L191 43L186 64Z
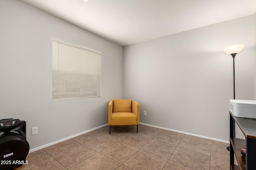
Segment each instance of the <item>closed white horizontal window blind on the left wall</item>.
M52 40L52 101L100 97L101 53Z

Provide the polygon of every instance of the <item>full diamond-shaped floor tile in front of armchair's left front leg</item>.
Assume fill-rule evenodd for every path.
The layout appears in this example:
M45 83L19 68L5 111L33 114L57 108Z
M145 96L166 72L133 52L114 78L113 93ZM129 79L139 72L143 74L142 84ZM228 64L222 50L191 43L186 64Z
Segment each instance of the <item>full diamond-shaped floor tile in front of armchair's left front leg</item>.
M113 160L116 160L117 162L123 163L138 150L138 148L118 142L100 151L100 153Z

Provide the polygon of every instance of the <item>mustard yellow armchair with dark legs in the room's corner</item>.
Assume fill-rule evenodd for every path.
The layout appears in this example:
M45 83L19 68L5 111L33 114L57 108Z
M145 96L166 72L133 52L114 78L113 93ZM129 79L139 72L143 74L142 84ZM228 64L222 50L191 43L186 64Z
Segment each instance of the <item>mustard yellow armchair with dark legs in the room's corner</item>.
M135 100L114 99L108 104L109 134L111 126L115 125L137 125L140 122L140 104Z

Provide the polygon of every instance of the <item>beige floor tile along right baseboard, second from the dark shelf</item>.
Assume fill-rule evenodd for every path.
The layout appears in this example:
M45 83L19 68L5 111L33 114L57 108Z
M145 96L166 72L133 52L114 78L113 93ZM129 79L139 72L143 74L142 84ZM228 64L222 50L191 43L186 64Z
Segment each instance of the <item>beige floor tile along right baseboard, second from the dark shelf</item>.
M204 153L204 154L211 154L211 144L204 141L194 140L190 138L183 138L178 147L186 148L189 150L194 150L196 152Z

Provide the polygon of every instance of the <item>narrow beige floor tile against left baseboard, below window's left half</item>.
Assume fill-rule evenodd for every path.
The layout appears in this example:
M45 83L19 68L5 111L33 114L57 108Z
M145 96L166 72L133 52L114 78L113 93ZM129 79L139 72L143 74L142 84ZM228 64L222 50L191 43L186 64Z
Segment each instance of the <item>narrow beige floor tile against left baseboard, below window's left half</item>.
M54 144L50 147L46 147L43 150L46 151L51 156L54 156L64 150L70 149L72 147L76 147L78 143L72 139L68 139L66 141Z

